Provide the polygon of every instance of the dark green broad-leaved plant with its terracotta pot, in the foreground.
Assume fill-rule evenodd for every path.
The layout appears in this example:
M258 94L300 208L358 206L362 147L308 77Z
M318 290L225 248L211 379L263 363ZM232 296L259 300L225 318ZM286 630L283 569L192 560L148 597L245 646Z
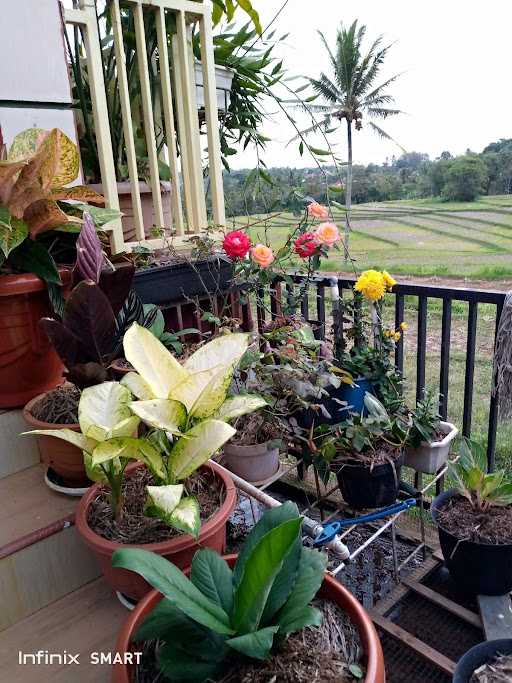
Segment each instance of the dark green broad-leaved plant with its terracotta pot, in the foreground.
M275 662L293 660L300 680L306 680L303 667L318 662L326 682L352 670L367 683L384 683L371 619L325 573L326 556L302 546L301 523L292 503L268 510L238 556L199 550L186 574L144 550L119 550L114 566L138 572L154 590L130 614L116 650L130 653L134 641L145 642L143 666L170 680L245 680L251 672L268 672L268 680L275 680ZM336 610L338 633L344 630L343 612L356 627L362 666L335 648L326 656L324 647L315 646L329 609ZM137 667L115 665L112 680L137 680Z

